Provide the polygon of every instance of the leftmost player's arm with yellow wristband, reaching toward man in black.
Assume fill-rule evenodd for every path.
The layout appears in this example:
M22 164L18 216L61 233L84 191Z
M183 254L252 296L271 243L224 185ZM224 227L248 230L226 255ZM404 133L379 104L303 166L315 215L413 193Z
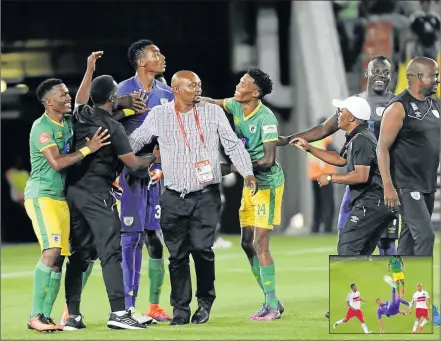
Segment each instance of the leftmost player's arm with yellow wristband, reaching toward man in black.
M110 135L107 134L107 129L101 132L101 127L98 128L95 135L91 140L86 139L86 147L70 154L60 154L58 146L51 135L52 129L44 126L35 128L36 130L31 132L32 142L39 148L49 165L57 172L62 169L72 166L87 155L96 152L101 147L110 144L107 142ZM51 132L49 132L49 130Z

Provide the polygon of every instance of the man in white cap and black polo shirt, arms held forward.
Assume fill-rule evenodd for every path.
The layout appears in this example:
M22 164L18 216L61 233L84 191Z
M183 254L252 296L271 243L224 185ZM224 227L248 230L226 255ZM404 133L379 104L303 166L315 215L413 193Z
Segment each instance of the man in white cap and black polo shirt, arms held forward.
M371 116L368 102L361 97L334 100L338 108L338 126L346 131L346 143L340 154L312 147L302 138L294 144L324 162L347 166L348 173L323 174L320 187L330 182L349 185L351 212L338 240L339 255L371 255L381 234L395 219L383 204L383 189L375 150L377 139L367 121Z

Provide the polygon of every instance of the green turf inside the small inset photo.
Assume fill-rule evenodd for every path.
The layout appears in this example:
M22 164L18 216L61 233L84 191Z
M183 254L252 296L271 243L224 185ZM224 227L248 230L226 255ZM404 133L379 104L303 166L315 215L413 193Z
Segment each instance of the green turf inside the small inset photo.
M381 298L383 301L390 301L391 286L383 280L384 275L392 277L387 270L389 257L372 257L371 260L364 259L331 259L330 261L330 322L331 324L345 317L348 307L346 297L350 292L350 284L356 283L362 299L367 301L361 303L365 323L368 329L374 333L379 333L379 323L377 318L377 304L375 300ZM405 266L405 293L402 297L412 300L412 295L416 291L416 284L422 283L433 299L432 277L433 267L431 257L403 257ZM401 305L401 311L409 309ZM382 318L385 333L411 333L415 321L415 312L411 315L396 315ZM330 328L331 333L363 333L360 322L352 318L347 323L339 325L336 329ZM433 324L427 323L424 332L433 333Z

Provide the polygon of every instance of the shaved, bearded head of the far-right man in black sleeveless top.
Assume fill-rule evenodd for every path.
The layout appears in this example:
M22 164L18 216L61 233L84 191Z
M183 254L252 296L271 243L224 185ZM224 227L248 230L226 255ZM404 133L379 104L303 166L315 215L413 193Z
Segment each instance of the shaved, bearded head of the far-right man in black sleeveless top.
M416 57L407 65L406 77L412 91L425 97L432 96L439 84L438 63L431 58Z

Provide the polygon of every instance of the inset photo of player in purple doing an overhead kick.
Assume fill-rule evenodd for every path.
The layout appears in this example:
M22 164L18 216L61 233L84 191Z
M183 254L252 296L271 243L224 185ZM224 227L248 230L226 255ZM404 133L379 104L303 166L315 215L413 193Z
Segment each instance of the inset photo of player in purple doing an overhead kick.
M329 333L433 334L432 293L432 257L330 256Z

